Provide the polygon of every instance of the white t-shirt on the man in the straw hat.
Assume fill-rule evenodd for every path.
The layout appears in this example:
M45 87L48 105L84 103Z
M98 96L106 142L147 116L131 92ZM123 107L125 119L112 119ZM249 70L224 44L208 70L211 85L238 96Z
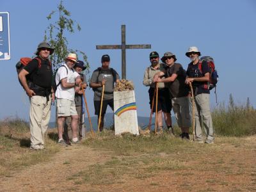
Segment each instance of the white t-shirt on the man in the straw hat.
M58 68L57 74L56 74L56 84L59 84L61 79L67 78L67 83L75 83L76 77L78 77L79 74L76 72L76 70L72 68L68 68L66 64L64 64L64 67ZM75 97L75 88L63 88L63 86L60 84L57 87L56 90L56 97L58 99L68 99L68 100L74 100Z

